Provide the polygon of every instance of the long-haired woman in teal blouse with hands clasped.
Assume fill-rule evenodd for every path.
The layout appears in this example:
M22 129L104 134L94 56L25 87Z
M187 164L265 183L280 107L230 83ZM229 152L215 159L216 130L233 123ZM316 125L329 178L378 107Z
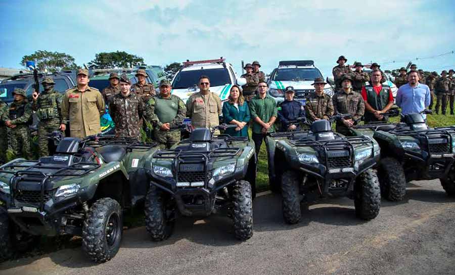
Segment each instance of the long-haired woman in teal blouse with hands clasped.
M229 100L223 104L223 118L226 123L235 124L237 127L226 129L224 134L233 137L247 137L250 109L240 91L240 87L237 85L232 86L228 98Z

